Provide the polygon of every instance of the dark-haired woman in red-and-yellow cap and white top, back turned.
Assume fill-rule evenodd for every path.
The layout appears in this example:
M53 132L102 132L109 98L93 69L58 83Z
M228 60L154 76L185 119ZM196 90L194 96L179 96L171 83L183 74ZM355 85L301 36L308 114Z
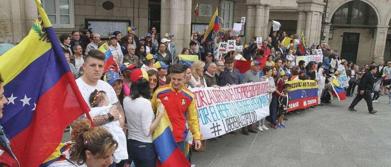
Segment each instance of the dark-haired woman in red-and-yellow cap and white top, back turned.
M124 98L128 128L128 154L136 166L153 167L156 164L157 156L152 143L152 133L160 123L165 107L162 103L156 102L157 115L155 118L151 101L149 101L151 93L148 74L145 70L135 69L130 80L133 91L130 96Z

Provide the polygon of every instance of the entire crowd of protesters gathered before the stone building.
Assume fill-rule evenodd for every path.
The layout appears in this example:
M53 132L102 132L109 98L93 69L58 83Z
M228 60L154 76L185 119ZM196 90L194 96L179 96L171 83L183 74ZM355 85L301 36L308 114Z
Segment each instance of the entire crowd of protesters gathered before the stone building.
M341 59L326 43L306 46L303 53L298 49L298 34L271 31L259 46L256 37L250 43L242 44L240 37L230 36L228 31L223 37L205 41L204 34L196 31L189 36L189 48L176 48L172 41L175 36L170 32L160 35L156 27L152 27L145 36L138 37L136 31L132 26L127 27L127 32L115 31L108 41L102 41L100 34L90 30L74 30L71 36L59 37L97 127L91 127L87 119L75 120L71 124L74 144L67 162L50 166L153 167L157 155L152 134L164 114L172 123L174 139L182 152L185 151L184 132L187 129L194 139L193 150L205 150L206 141L202 140L194 95L190 91L194 87L219 88L269 81L269 116L243 127L244 135L269 130L265 121L269 122L270 128L285 128L289 126L283 123L288 120L285 114L307 111L303 108L287 112L291 85L285 82L294 77L317 82L319 102L311 108L331 104L333 80L341 71L346 72L349 80L349 86L344 88L346 96L355 96L348 110L357 111L354 106L364 98L369 113L374 114L377 111L372 103L377 103L384 94L389 96L388 105L391 105L391 62L381 61L378 66L373 62L360 68L352 61ZM285 37L292 39L288 46L282 43ZM243 50L219 53L219 42L227 40L236 40ZM115 59L106 71L106 55L97 50L104 43L108 44ZM296 62L297 57L312 54L312 49L322 50L323 62ZM181 54L197 55L199 60L186 66L178 61ZM264 57L267 60L260 62ZM250 60L249 70L241 75L234 68L235 60ZM217 142L218 139L208 141Z

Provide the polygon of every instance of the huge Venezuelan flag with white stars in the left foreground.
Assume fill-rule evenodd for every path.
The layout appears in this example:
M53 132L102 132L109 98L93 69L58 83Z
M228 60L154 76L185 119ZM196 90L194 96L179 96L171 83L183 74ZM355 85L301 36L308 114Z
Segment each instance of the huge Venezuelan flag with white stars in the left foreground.
M0 124L21 167L37 167L61 142L63 131L90 110L76 85L54 29L39 15L23 41L0 57L4 96Z

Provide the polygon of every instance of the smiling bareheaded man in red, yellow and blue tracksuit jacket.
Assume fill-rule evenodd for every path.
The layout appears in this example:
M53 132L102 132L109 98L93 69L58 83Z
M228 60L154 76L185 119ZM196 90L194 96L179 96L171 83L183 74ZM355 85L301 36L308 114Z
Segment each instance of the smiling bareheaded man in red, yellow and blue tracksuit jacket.
M201 148L202 135L194 94L184 85L187 66L177 63L171 66L170 71L171 83L155 91L151 99L152 108L154 111L158 108L158 99L160 99L172 124L172 134L182 152L185 149L184 138L188 133L187 121L195 140L195 150L198 150Z

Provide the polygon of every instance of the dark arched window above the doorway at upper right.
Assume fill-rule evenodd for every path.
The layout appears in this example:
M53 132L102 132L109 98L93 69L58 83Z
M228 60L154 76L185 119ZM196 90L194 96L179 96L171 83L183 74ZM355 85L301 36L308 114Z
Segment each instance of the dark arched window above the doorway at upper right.
M331 23L350 25L377 25L375 10L365 2L354 0L341 5L335 11Z

